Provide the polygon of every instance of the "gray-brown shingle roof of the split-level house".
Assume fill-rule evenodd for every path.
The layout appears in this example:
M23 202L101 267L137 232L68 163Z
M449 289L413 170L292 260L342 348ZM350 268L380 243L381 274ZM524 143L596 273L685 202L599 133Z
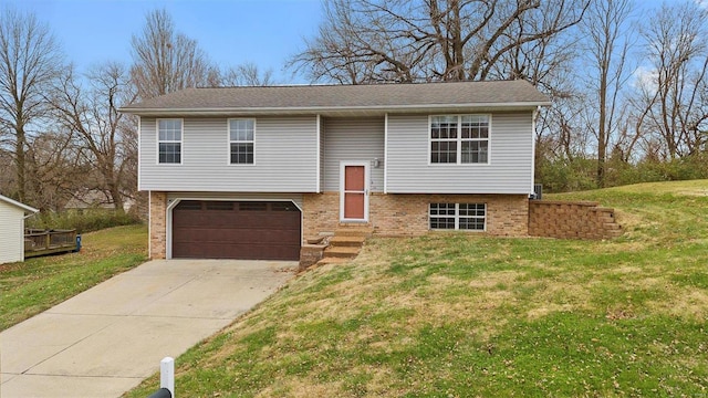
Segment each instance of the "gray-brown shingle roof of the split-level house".
M525 81L375 85L187 88L122 108L126 113L415 109L449 106L549 105ZM169 112L168 112L169 111Z

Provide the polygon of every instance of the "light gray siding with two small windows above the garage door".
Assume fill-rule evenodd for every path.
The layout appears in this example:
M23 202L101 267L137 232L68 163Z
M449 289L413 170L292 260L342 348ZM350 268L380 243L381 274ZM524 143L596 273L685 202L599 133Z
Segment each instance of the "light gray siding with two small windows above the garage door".
M184 118L181 165L157 164L155 118L140 123L140 190L316 191L316 118L256 118L253 165L229 164L227 118Z

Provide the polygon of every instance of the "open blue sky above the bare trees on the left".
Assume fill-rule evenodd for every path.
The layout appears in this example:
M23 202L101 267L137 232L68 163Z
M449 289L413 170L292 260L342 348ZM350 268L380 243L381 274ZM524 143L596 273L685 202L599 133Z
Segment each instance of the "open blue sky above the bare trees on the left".
M320 0L0 0L4 4L35 12L80 71L108 60L129 63L131 36L148 11L165 8L219 66L252 62L272 69L282 84L305 83L282 66L321 19Z

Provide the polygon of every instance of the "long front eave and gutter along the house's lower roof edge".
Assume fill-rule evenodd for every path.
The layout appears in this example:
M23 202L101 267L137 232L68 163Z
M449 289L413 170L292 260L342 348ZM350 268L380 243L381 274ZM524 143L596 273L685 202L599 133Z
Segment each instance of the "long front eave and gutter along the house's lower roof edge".
M163 108L163 107L122 107L118 111L138 116L189 116L189 115L312 115L327 113L423 113L447 109L493 109L493 111L522 111L535 109L539 106L550 106L549 101L539 102L511 102L511 103L471 103L471 104L430 104L430 105L381 105L381 106L288 106L288 107L192 107L192 108Z

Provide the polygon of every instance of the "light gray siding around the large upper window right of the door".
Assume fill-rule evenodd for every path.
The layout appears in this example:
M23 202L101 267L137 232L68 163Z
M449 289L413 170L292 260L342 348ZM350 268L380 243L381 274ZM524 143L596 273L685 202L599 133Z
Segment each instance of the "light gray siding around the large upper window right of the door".
M530 193L532 112L491 115L488 165L429 164L428 115L388 116L387 192Z

